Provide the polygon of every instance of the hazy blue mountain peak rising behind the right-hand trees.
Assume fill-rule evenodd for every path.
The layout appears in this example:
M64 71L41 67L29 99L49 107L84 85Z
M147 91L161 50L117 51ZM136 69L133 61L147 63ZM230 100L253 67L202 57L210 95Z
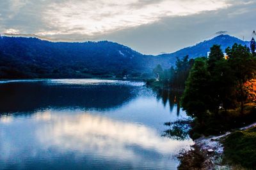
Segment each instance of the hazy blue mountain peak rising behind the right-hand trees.
M215 38L209 39L207 41L203 41L201 43L198 43L194 46L189 46L187 48L183 48L182 50L179 50L174 53L164 53L159 55L159 57L166 57L169 60L173 60L176 57L183 57L185 55L189 55L189 58L196 58L196 57L203 57L207 56L207 52L210 51L210 48L212 45L221 45L221 49L223 52L225 52L225 49L228 46L234 45L234 43L241 44L241 45L250 45L249 41L243 41L241 39L238 39L234 36L229 35L220 35L216 36Z

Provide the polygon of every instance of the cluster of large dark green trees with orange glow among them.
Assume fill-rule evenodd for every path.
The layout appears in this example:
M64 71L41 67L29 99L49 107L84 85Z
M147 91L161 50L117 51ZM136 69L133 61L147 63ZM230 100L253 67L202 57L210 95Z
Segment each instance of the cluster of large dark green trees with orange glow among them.
M226 53L228 59L220 46L214 45L208 58L195 59L181 98L182 108L195 118L194 124L203 134L221 133L256 120L252 83L256 57L249 48L237 44Z

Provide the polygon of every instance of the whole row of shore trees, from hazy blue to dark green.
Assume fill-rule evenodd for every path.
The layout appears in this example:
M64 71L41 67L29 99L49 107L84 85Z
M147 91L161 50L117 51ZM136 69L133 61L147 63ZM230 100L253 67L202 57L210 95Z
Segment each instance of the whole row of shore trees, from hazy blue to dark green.
M253 51L253 50L252 50ZM226 49L213 45L209 57L177 59L175 67L153 70L156 78L147 80L170 103L181 106L193 117L191 138L222 134L256 122L256 56L236 43ZM160 94L161 94L160 93ZM168 95L166 95L168 94Z

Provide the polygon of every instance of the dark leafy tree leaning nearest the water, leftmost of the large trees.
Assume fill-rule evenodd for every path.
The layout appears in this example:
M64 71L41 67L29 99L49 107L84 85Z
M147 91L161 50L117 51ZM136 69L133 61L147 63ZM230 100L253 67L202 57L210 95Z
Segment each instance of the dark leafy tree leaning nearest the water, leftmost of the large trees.
M183 109L189 116L198 118L201 125L211 104L211 97L209 96L210 74L207 71L206 61L204 57L195 59L181 99Z

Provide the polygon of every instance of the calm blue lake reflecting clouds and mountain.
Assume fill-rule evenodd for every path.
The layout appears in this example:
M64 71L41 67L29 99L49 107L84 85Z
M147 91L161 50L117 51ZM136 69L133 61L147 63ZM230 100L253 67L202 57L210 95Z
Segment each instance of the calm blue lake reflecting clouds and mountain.
M0 169L177 169L186 118L141 81L0 81ZM169 100L169 101L168 101Z

